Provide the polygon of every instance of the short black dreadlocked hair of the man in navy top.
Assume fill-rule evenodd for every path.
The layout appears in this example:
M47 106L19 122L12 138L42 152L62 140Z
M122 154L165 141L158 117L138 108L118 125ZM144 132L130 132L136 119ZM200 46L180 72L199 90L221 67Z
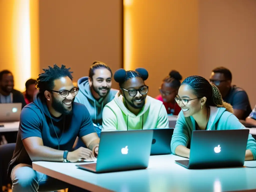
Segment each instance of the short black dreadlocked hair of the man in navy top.
M48 66L48 69L43 69L44 73L38 75L36 86L39 89L39 93L44 93L47 90L52 90L54 88L54 80L61 77L69 77L73 80L72 73L70 68L66 68L65 65L61 67L54 64L53 67Z

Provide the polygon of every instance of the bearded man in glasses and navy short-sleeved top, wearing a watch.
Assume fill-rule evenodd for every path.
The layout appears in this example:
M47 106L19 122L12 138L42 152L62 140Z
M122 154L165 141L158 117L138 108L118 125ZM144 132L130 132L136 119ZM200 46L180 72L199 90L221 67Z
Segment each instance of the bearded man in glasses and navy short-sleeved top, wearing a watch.
M32 162L77 162L98 154L99 137L90 114L84 105L73 102L78 88L73 86L69 69L56 64L44 69L37 79L36 99L20 114L16 147L8 167L13 192L76 188L33 170ZM72 151L77 136L87 148Z

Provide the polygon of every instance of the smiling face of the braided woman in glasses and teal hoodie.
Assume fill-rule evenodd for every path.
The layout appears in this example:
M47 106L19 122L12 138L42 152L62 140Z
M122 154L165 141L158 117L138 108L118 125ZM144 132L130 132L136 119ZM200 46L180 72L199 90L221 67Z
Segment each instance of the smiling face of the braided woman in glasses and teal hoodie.
M184 116L189 117L201 110L201 106L205 104L206 98L198 98L187 84L183 84L179 88L176 101L180 108L182 108Z

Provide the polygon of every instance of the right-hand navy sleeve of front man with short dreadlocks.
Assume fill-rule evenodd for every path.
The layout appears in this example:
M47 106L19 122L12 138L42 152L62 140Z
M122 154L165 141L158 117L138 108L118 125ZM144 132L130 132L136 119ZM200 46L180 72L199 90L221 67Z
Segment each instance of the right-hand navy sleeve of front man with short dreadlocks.
M81 105L80 110L81 110L81 116L82 116L82 124L78 132L78 136L81 138L90 133L96 133L96 130L93 126L92 119L88 109L84 105Z

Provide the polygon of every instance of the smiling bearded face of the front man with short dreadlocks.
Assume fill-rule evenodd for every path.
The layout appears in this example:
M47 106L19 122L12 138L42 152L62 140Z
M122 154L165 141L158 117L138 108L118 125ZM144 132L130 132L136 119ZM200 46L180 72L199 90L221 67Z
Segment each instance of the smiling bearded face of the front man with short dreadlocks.
M70 91L74 88L74 85L69 77L61 77L54 81L54 91ZM74 101L74 96L69 93L67 97L62 97L61 94L57 92L52 92L51 106L52 108L61 114L71 114L72 113L72 103Z

